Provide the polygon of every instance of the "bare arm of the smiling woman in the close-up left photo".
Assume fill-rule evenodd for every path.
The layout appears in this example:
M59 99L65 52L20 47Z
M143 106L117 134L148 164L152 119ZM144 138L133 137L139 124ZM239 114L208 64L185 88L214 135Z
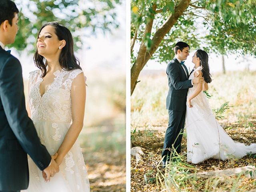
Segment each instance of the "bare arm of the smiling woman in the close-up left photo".
M72 124L60 145L57 153L56 163L61 164L64 156L72 148L78 135L80 134L84 124L84 108L86 100L86 85L84 74L79 74L72 82L71 86L71 101L72 101Z

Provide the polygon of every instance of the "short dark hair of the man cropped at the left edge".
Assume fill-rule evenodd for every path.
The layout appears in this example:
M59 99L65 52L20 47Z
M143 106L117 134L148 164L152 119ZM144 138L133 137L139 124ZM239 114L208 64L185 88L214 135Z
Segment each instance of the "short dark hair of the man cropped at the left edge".
M18 13L19 10L16 4L11 0L0 0L0 25L5 20L8 20L12 26L12 19L15 16L15 13Z

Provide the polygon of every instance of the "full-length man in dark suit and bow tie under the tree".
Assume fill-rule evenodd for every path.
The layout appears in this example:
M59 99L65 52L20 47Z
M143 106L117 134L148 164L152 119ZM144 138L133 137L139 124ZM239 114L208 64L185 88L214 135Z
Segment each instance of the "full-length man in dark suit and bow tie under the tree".
M184 60L189 56L190 46L185 42L178 42L174 46L174 59L168 64L166 74L168 77L169 91L166 98L166 109L169 113L168 127L164 138L162 151L162 164L181 151L181 140L185 124L186 98L188 88L203 82L203 78L188 80L188 69Z

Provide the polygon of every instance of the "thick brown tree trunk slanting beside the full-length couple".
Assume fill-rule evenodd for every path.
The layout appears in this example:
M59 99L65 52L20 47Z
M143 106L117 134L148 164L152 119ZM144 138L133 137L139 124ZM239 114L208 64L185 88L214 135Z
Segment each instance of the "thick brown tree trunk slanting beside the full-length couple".
M149 51L139 50L137 60L135 64L131 68L131 95L136 87L138 76L146 65L152 54L156 51L159 44L163 40L164 36L170 31L172 26L176 23L178 18L183 14L183 12L188 8L191 0L181 0L180 3L174 8L174 13L172 13L168 19L164 22L164 24L156 31L152 38L152 46ZM153 20L152 20L153 23ZM145 29L146 32L146 29ZM144 33L145 34L145 33ZM142 42L140 49L142 49L144 42Z

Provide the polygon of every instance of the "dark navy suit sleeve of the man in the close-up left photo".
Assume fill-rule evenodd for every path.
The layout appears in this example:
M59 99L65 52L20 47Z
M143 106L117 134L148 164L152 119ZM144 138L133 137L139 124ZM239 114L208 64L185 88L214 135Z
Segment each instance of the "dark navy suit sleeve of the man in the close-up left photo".
M51 156L40 143L34 124L26 112L22 69L14 57L6 60L0 72L0 98L18 142L38 168L44 170L50 164Z

